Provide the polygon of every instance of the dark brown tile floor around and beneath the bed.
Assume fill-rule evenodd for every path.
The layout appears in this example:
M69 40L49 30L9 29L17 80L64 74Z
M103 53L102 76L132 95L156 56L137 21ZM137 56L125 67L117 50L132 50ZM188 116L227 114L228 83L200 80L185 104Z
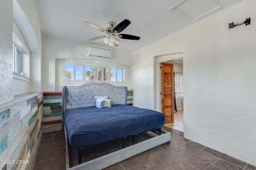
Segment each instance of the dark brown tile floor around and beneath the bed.
M123 160L104 170L256 170L256 166L210 149L183 137L183 133L163 127L172 135L170 145L165 143ZM154 136L145 133L136 137L136 143ZM82 151L82 162L87 162L121 149L121 140L105 143ZM126 146L132 145L126 139ZM77 150L70 148L70 166L78 164ZM65 138L63 131L44 133L36 158L35 170L65 168Z

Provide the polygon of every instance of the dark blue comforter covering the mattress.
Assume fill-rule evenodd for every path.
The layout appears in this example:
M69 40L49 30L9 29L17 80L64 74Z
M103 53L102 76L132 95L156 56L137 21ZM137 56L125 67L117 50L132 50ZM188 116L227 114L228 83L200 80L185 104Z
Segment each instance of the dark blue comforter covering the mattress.
M70 145L75 148L161 128L164 116L158 111L122 104L68 109L63 114Z

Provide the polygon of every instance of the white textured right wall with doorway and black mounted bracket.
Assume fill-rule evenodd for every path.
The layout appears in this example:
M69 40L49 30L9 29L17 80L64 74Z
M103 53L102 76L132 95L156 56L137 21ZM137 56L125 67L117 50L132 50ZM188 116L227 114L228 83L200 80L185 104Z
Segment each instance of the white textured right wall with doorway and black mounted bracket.
M154 106L154 56L183 52L184 137L256 165L256 1L132 53L133 104ZM251 18L251 25L228 23Z

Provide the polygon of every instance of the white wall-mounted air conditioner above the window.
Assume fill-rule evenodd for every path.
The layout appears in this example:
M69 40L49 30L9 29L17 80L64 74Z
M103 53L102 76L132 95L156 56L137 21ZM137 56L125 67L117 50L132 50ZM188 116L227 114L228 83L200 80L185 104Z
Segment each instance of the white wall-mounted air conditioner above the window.
M110 60L111 59L111 51L88 47L86 49L86 57L94 58L94 59Z

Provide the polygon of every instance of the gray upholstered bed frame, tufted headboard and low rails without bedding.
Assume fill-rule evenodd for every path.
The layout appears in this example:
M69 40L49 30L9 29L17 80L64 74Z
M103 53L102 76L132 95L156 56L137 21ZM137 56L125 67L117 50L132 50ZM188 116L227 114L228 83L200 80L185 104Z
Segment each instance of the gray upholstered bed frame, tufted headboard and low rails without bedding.
M96 106L94 96L108 96L111 99L112 104L126 104L127 100L127 87L126 86L113 86L108 83L95 83L89 82L80 86L63 86L62 87L62 115L67 109ZM69 153L68 146L69 141L67 137L67 131L65 123L63 123L63 129L66 139L66 169L69 170L82 170L82 169L94 169L100 170L108 166L116 164L122 160L130 158L136 154L144 152L148 149L161 145L163 143L170 143L171 135L169 132L162 129L152 129L153 132L159 136L153 137L146 141L135 144L134 136L132 137L133 145L130 147L124 147L124 140L122 141L121 150L112 152L110 154L101 156L94 160L90 160L82 164L82 149L78 149L78 162L79 165L69 168ZM156 131L155 131L156 130Z

